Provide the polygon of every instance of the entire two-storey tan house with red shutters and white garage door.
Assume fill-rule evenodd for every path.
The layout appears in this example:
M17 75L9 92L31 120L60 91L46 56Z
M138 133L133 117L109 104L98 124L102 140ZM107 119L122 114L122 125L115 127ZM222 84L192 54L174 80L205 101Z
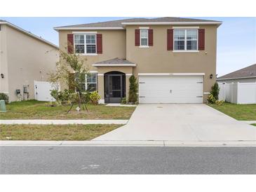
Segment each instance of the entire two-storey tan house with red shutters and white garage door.
M134 18L55 27L60 50L86 59L92 75L84 87L101 103L128 97L139 83L140 103L202 103L215 83L217 27L189 18Z

